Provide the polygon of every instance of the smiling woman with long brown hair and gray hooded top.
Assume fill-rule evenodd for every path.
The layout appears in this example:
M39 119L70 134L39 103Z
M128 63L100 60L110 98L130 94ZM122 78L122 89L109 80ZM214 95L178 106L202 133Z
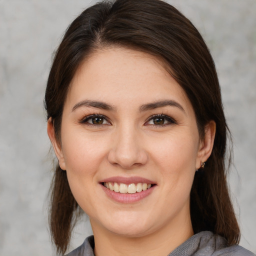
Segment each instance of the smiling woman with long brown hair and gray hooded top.
M253 255L236 245L214 63L174 7L116 0L84 10L56 51L45 109L58 253L82 209L94 236L69 256Z

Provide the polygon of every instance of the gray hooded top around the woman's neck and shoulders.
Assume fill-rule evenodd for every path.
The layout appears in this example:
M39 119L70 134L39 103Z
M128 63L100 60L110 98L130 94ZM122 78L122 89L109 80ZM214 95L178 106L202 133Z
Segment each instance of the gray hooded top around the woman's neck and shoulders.
M66 254L66 256L94 256L94 238L88 236L84 242ZM239 246L227 246L226 240L210 231L194 234L176 247L167 256L256 256L249 250Z

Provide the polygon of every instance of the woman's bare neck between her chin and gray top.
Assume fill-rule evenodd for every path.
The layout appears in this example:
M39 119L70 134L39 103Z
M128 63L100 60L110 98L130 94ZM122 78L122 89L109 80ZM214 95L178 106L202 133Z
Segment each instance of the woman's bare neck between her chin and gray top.
M178 245L193 235L190 217L182 222L174 219L157 231L138 237L115 234L104 228L98 228L91 220L94 233L95 256L147 256L167 255Z

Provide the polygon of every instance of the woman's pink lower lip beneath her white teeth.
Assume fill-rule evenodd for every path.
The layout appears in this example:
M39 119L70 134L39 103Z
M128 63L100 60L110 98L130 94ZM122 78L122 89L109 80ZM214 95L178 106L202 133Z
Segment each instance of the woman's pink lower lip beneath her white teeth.
M156 187L156 185L154 185L144 191L142 190L141 192L128 194L128 193L115 192L115 191L112 191L112 190L106 188L103 185L101 185L101 186L108 197L110 197L111 199L113 199L116 202L121 202L121 203L133 203L133 202L140 201L143 198L145 198L146 196L148 196Z

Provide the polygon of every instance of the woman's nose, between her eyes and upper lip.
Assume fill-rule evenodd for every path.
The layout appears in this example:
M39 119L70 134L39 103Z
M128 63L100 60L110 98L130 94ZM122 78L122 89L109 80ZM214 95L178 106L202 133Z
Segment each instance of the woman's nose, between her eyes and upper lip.
M120 128L115 131L108 161L119 165L123 169L131 169L144 165L148 160L146 150L143 148L142 138L134 127Z

